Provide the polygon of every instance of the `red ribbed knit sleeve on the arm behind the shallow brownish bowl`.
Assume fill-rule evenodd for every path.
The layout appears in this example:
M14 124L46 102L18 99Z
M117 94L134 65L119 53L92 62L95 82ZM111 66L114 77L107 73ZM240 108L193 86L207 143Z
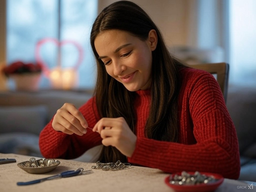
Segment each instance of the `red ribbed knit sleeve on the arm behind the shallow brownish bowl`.
M89 99L87 103L79 108L87 120L89 127L99 120L94 98ZM82 155L89 148L101 144L101 137L97 132L87 129L83 136L65 134L55 131L52 128L52 120L45 126L39 135L39 148L45 158L64 158L73 159Z

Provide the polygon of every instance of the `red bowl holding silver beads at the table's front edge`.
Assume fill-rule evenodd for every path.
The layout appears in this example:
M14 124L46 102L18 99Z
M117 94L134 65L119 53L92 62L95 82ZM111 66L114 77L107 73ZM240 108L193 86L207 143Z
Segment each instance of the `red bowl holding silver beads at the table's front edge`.
M189 174L194 174L195 172L188 172ZM181 175L181 172L174 173L168 177L165 178L165 183L170 188L174 189L176 192L211 192L214 191L219 187L219 185L222 184L224 178L220 174L216 173L206 173L206 172L200 172L200 174L205 174L206 176L214 176L217 181L207 183L207 184L196 184L196 185L177 185L177 184L171 184L170 183L170 177L173 177L174 175Z

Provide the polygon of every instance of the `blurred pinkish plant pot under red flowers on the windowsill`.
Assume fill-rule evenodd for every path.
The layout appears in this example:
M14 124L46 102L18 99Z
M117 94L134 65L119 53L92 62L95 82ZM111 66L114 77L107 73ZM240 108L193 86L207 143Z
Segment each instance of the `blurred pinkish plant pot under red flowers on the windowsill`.
M14 80L17 91L37 91L41 73L12 74L10 78Z

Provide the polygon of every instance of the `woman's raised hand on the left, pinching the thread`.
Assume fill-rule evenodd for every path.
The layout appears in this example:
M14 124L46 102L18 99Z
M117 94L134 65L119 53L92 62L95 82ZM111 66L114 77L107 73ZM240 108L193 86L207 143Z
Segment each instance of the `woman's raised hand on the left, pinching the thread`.
M71 103L65 103L53 117L52 127L72 135L73 133L82 136L87 132L87 121L82 113Z

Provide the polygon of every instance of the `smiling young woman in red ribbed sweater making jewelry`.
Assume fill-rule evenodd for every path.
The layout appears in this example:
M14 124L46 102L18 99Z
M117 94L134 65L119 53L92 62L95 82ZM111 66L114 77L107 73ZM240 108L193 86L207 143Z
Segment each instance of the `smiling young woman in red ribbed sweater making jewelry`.
M174 59L146 12L117 1L98 15L90 40L94 97L57 110L40 134L44 157L72 159L103 144L101 162L238 178L236 130L217 81Z

